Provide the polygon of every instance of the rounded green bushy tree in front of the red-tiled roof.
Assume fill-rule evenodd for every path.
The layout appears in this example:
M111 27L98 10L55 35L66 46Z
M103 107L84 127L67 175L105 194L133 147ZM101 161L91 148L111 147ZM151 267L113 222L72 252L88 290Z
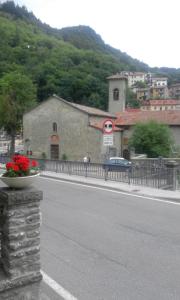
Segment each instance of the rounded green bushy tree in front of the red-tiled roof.
M136 124L129 140L129 146L136 153L145 153L148 157L168 157L172 143L169 127L155 121Z

